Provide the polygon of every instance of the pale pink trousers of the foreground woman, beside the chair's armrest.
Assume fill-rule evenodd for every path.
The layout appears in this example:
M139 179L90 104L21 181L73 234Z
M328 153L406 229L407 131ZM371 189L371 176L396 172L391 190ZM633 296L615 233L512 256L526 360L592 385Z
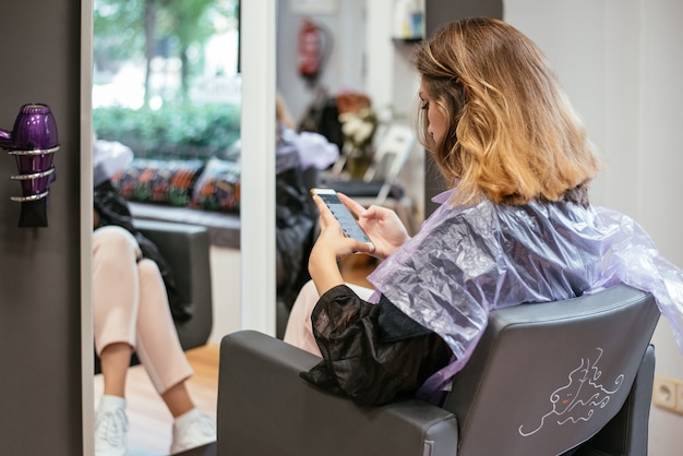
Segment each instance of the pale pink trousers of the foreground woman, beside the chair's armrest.
M361 299L368 299L373 290L358 285L346 284ZM321 357L320 349L313 336L313 324L311 323L311 314L317 303L320 296L315 289L313 280L309 280L301 287L299 296L291 308L289 320L287 320L287 328L283 339L287 344L299 347L310 353Z

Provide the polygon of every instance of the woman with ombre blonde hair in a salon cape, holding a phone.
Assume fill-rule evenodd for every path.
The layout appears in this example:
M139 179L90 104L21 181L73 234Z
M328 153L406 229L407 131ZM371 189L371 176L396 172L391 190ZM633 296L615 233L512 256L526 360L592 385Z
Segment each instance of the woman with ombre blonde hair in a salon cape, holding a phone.
M414 63L418 137L451 190L412 239L392 212L340 195L372 251L315 199L312 283L285 334L323 357L302 376L359 405L415 394L439 403L492 309L618 281L652 291L680 340L683 275L633 220L589 204L600 164L538 47L502 21L466 19L419 45ZM368 277L374 289L344 284L336 262L352 252L383 260Z

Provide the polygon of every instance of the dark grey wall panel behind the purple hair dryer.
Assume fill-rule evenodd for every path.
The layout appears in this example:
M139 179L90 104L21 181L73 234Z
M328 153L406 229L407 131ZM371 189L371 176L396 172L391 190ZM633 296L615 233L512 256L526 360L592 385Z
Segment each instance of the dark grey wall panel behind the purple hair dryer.
M0 152L0 454L81 455L80 2L3 0L0 48L0 128L45 103L61 144L46 228L17 227Z

